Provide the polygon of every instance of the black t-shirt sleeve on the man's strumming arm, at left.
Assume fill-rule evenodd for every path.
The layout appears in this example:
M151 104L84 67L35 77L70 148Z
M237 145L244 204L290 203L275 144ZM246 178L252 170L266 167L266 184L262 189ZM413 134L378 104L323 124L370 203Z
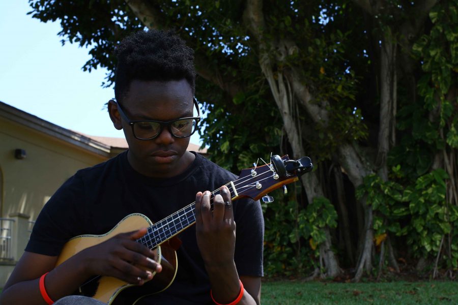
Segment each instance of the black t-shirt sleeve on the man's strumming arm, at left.
M25 251L56 256L84 219L83 181L78 174L69 178L44 205L32 229Z

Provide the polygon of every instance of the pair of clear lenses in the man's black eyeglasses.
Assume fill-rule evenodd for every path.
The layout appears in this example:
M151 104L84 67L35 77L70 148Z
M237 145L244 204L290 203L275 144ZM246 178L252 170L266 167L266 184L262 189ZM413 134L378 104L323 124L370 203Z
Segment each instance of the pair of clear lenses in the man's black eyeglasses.
M151 139L156 137L161 132L161 123L143 121L136 122L134 126L134 134L137 138ZM179 119L168 124L169 131L178 138L189 137L197 125L193 118Z

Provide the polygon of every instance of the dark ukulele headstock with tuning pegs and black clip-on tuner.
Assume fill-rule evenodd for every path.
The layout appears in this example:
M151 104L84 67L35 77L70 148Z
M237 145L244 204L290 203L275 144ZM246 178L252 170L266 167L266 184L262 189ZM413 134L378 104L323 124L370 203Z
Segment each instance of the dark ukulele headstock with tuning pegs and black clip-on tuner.
M284 187L313 169L310 158L290 160L288 155L271 157L271 163L262 166L254 165L252 168L243 169L239 178L234 181L237 197L250 197L254 200L262 198L270 191ZM272 197L265 201L273 201Z

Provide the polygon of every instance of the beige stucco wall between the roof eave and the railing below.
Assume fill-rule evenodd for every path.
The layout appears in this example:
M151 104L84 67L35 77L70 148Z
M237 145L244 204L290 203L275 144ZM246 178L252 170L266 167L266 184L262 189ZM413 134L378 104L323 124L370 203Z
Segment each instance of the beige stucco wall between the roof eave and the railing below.
M26 151L25 159L15 159L17 148ZM35 220L66 179L78 169L105 160L106 157L0 117L0 217L20 213Z

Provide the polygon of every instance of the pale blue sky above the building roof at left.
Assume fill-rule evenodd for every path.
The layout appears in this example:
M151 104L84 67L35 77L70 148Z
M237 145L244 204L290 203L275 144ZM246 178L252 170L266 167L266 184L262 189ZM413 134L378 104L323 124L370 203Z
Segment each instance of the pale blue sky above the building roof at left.
M83 72L90 49L62 46L60 23L30 11L27 0L0 0L0 101L76 132L124 137L104 107L115 96L101 86L107 71ZM197 132L191 143L200 144Z

